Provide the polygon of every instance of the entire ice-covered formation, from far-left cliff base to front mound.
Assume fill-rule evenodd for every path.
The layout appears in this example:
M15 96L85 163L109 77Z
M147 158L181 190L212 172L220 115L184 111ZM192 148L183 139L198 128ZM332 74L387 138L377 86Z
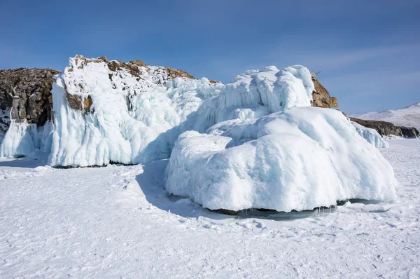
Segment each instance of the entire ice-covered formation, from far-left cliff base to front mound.
M10 123L0 156L42 149L52 166L170 157L167 191L210 209L395 200L393 170L375 148L386 142L339 111L311 107L313 91L299 65L251 70L223 85L78 55L52 86L54 124Z

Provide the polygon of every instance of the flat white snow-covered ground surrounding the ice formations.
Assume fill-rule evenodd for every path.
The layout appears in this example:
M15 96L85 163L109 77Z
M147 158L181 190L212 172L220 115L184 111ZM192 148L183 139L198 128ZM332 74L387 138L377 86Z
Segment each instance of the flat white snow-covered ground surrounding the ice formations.
M419 278L420 140L389 143L398 202L237 217L167 196L167 160L1 159L0 278Z

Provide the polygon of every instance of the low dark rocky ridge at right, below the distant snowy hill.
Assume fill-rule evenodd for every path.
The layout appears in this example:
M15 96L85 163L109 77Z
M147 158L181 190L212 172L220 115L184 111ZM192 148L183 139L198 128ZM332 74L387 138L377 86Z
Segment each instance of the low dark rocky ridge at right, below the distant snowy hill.
M377 130L382 137L389 135L395 135L397 137L419 137L419 131L416 128L399 127L386 121L363 120L353 117L350 120L367 128Z

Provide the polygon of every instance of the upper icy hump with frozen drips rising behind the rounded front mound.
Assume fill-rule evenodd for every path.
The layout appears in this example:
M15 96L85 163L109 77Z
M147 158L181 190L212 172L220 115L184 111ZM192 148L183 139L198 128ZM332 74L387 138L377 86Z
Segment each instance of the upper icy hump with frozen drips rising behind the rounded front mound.
M221 94L204 104L203 114L213 123L234 118L255 118L290 107L311 105L314 83L306 67L275 66L235 76ZM201 111L199 112L201 113Z

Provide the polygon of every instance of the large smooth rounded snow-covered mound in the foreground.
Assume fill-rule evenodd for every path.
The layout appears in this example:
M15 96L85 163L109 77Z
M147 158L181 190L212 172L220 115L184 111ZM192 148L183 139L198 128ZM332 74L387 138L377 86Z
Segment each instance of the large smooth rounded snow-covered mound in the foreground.
M211 210L290 212L360 198L395 200L391 165L339 111L293 107L184 132L167 167L168 193Z

